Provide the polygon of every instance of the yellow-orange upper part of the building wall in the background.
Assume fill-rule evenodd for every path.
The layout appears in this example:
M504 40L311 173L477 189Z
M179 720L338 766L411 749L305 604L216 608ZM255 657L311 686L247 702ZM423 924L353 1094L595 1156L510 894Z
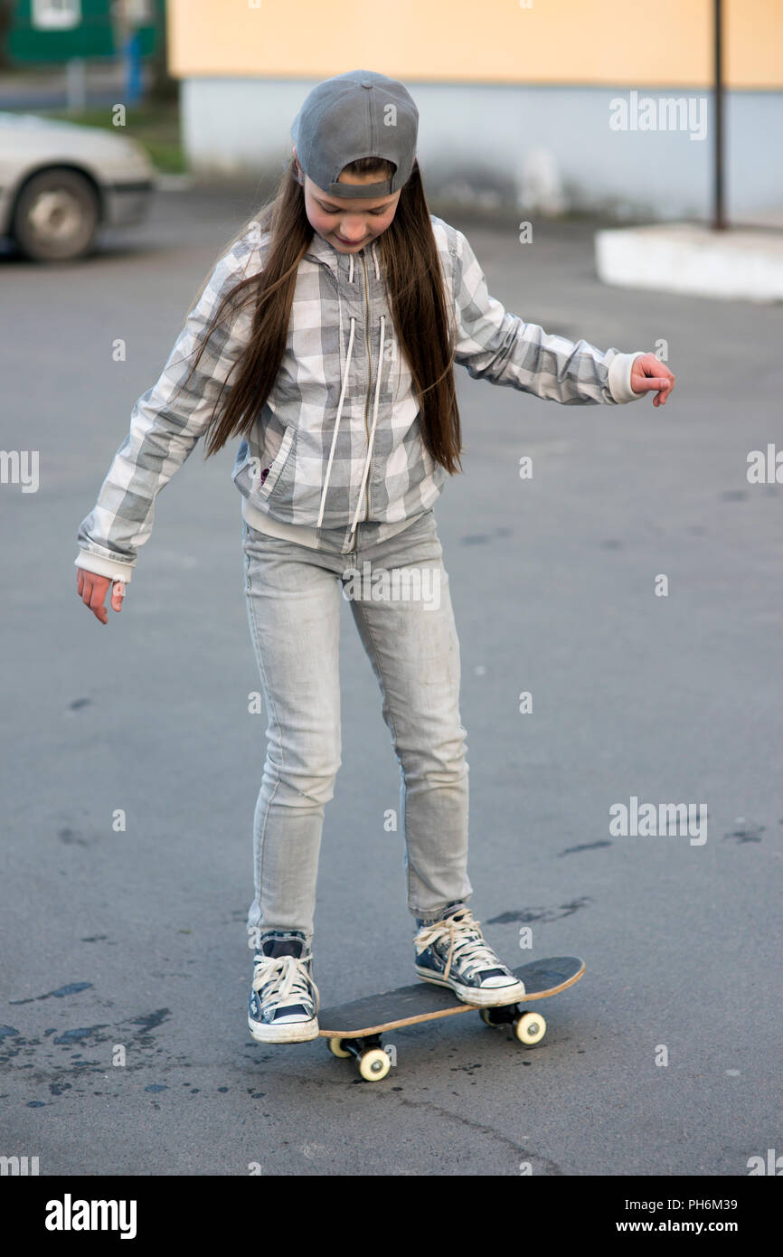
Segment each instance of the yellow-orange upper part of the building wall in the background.
M168 0L175 77L709 87L713 0ZM724 0L725 77L783 87L783 0Z

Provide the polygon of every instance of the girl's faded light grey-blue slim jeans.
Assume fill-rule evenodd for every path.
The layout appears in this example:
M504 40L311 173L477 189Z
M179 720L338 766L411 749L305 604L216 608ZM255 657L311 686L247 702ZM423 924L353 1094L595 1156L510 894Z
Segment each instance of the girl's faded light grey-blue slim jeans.
M460 649L435 514L371 544L362 524L357 530L357 551L347 553L347 529L322 529L320 548L312 549L243 520L248 620L268 716L250 947L260 928L312 936L324 804L341 767L346 597L400 764L407 906L415 916L435 916L473 892Z

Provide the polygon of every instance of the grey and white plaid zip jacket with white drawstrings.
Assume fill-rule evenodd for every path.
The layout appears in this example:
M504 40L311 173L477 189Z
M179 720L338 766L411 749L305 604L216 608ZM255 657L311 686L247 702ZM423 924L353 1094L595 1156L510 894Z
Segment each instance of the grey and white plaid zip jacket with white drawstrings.
M431 221L455 317L456 362L470 376L563 405L641 396L631 390L631 365L643 351L602 352L508 313L490 297L466 238L435 215ZM219 299L263 269L268 246L268 234L251 225L215 266L157 383L133 406L129 432L79 527L78 567L129 581L152 530L155 499L205 432L226 380L227 396L229 373L250 337L248 309L212 333L199 370L180 386ZM446 475L421 439L377 243L341 254L315 233L299 264L280 371L231 473L245 519L351 534L361 522L383 541L432 507Z

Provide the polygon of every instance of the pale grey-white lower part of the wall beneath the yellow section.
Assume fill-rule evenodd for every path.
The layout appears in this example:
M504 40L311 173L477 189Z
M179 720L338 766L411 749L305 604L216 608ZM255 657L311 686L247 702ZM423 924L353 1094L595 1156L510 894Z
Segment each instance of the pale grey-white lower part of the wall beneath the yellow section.
M290 156L290 123L313 85L289 79L182 80L183 143L197 173L277 173ZM627 88L411 83L420 112L419 161L430 195L484 197L520 211L523 168L552 155L569 209L610 217L709 216L711 106L699 89L643 88L640 97L708 98L708 134L612 131L610 102ZM729 217L783 206L783 93L733 92L726 114ZM694 116L695 117L695 116Z

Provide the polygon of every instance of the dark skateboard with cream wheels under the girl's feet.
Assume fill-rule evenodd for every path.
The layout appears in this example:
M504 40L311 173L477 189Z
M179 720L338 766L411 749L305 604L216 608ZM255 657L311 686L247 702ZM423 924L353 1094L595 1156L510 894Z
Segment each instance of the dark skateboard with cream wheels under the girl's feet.
M524 983L524 1002L547 999L559 991L573 987L584 973L584 960L577 955L557 955L545 960L533 960L514 969ZM412 987L400 987L378 996L366 996L349 1004L336 1004L318 1013L319 1037L328 1040L333 1056L353 1056L359 1073L367 1082L380 1082L391 1068L391 1056L385 1050L381 1035L401 1026L439 1021L457 1013L478 1012L486 1026L510 1026L514 1037L528 1047L540 1043L547 1022L540 1013L525 1012L519 1003L499 1004L495 1008L478 1008L457 999L450 987L431 982L417 982Z

